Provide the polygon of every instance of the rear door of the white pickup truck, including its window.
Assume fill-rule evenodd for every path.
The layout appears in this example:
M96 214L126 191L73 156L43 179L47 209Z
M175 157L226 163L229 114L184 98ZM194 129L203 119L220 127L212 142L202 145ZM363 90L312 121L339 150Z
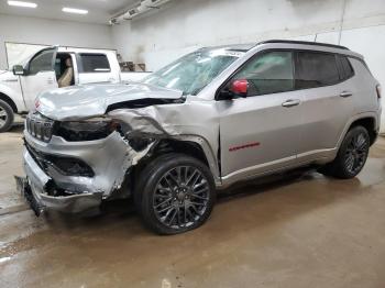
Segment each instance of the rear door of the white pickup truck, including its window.
M119 70L111 68L109 58L103 53L79 53L77 64L79 84L119 81Z

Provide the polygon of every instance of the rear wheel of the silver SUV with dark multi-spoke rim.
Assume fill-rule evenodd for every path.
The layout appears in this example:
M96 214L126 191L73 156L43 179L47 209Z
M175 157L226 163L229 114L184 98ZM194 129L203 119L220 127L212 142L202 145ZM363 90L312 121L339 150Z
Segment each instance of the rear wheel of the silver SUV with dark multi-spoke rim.
M343 139L336 159L319 171L340 179L353 178L364 167L370 146L367 130L363 126L354 126Z

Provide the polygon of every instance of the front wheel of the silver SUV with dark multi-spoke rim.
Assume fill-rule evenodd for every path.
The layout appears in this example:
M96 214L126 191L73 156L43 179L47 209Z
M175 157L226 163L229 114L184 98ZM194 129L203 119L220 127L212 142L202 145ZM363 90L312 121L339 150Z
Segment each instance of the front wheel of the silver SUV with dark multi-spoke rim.
M209 168L184 154L166 154L140 174L135 204L143 222L158 234L194 230L209 218L216 202Z

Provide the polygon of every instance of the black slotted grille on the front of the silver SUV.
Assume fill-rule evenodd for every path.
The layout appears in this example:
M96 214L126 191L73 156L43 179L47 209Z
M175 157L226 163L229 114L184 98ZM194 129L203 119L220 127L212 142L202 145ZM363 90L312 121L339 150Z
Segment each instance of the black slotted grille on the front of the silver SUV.
M54 129L54 121L35 112L30 113L25 120L26 131L35 139L50 142Z

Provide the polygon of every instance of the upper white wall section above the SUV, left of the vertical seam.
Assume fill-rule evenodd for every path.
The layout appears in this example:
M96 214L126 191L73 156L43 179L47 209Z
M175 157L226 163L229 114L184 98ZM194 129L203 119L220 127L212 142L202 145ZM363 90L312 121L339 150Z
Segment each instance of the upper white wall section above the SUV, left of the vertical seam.
M145 60L148 68L155 69L186 48L337 30L342 3L343 0L174 0L151 16L113 26L112 33L123 57Z

